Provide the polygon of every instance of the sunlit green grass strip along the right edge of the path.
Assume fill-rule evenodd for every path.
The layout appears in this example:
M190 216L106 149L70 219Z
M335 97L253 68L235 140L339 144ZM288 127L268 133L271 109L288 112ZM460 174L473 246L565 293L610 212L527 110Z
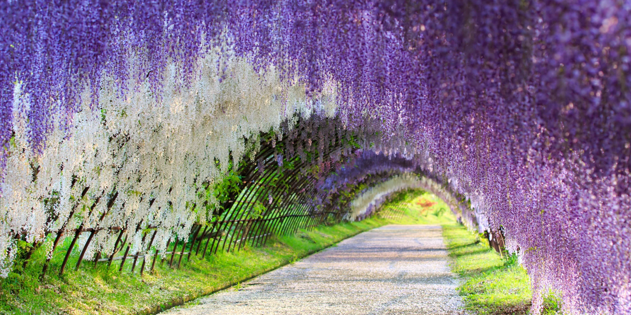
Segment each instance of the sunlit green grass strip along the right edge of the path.
M480 315L529 314L530 280L514 255L500 256L489 248L487 239L459 224L444 224L442 231L452 271L464 281L458 289L466 309ZM555 295L548 295L542 314L560 314L559 309Z

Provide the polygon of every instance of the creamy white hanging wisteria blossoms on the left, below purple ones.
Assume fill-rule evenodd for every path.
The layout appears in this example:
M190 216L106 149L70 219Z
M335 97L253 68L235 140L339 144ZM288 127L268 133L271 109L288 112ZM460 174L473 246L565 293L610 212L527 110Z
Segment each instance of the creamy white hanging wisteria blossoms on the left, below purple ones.
M103 77L98 103L91 104L85 91L72 125L61 127L64 117L51 119L55 127L41 152L33 151L28 141L32 95L22 89L23 83L16 83L15 136L6 151L1 187L4 252L15 253L10 247L15 246L11 239L16 232L25 232L28 242L41 241L46 231L59 229L73 209L83 206L69 226L159 226L156 244L166 246L170 233L187 235L195 221L208 215L203 183L220 179L231 157L238 164L246 153L256 154L246 152L252 146L244 138L257 142L261 132L278 130L286 115L309 117L329 106L307 104L304 86L295 86L288 88L296 90L285 100L289 107L278 97L277 72L268 69L259 75L236 57L221 79L214 71L216 59L216 54L200 59L188 88L178 85L174 67L167 69L159 102L146 82L131 84L121 97L116 79ZM216 161L221 161L218 167ZM116 192L111 209L108 202L98 202ZM92 205L96 208L87 210ZM98 222L105 213L105 221ZM113 246L111 236L97 234L87 256ZM5 272L11 259L0 258Z

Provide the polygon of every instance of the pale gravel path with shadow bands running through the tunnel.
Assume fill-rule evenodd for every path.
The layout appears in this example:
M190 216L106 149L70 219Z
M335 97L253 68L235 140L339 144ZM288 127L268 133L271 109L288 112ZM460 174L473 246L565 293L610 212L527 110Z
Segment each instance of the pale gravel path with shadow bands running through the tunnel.
M466 314L456 287L440 226L384 226L166 314Z

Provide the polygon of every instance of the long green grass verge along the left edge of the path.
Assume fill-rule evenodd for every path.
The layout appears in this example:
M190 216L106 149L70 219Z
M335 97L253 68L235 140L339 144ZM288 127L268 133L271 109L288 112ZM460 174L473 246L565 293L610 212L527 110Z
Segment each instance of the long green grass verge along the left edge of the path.
M35 253L34 263L23 272L0 279L0 314L139 314L168 308L175 303L190 301L218 289L238 284L292 263L304 256L331 246L359 232L384 224L414 223L410 217L399 221L373 217L362 222L346 222L320 226L312 231L298 231L293 236L273 238L262 248L245 248L237 252L221 252L201 259L182 260L179 270L156 261L153 273L143 277L131 275L131 261L126 270L118 272L118 263L111 268L104 264L93 268L91 261L74 271L69 261L67 272L57 275L59 267L51 268L43 280L38 276L44 253ZM44 252L44 250L42 250ZM177 256L175 257L177 259ZM53 261L56 261L54 258ZM76 258L75 258L76 261Z

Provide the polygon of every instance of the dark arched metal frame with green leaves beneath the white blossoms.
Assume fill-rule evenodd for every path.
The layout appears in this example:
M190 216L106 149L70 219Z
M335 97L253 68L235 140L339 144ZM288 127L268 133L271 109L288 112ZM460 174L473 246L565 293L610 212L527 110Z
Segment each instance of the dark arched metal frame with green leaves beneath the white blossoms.
M61 268L59 268L59 274L64 273L78 239L86 232L90 234L80 249L75 269L80 268L91 240L97 233L106 232L112 236L115 235L114 246L95 253L95 256L91 258L94 261L94 266L96 267L101 263L107 263L107 266L111 266L114 261L121 261L119 271L122 272L126 261L133 260L131 273L139 269L139 273L142 275L144 271L155 268L158 255L163 256L160 260L161 264L166 259L170 267L179 268L184 256L190 260L193 254L205 258L206 255L219 251L238 251L246 246L264 246L272 236L284 236L292 234L298 229L309 230L321 224L340 222L348 212L348 203L351 200L343 198L341 192L336 192L329 195L333 202L316 205L314 200L318 196L320 182L318 176L314 176L314 173L317 172L314 172L313 168L322 165L323 162L333 161L331 154L334 152L344 150L351 153L357 149L353 143L358 139L353 139L350 132L341 132L336 127L332 129L333 131L329 129L327 131L329 132L328 138L323 143L319 143L324 139L321 126L307 123L292 131L295 137L288 137L285 134L283 139L278 141L274 139L273 134L262 134L260 137L261 147L252 159L253 162L242 161L238 166L234 166L237 175L241 178L238 189L232 195L227 196L227 202L222 203L218 207L218 211L211 215L207 222L196 222L186 238L168 239L167 250L163 253L158 250L151 251L158 226L143 226L143 222L139 222L133 227L99 226L100 222L109 214L118 192L110 192L107 195L107 200L105 200L106 198L103 200L95 199L87 209L88 213L91 214L99 202L107 202L107 210L99 214L97 222L93 223L95 227L85 227L85 224L81 223L76 229L69 228L69 222L71 222L74 212L81 206L81 202L76 202L61 229L47 231L48 234L55 235L52 251L59 247L59 243L62 243L64 238L68 238L69 235L73 236L69 247L64 248L66 253ZM282 163L279 163L280 148L288 145L316 149L306 154L293 152L293 156L286 156L282 159ZM292 152L293 149L289 151ZM347 156L352 157L353 154L347 154ZM334 161L338 165L343 164L343 159L339 159L339 154ZM291 167L285 167L289 165ZM394 173L385 172L365 176L357 183L362 185L350 187L351 195L358 193L360 186L366 188L376 185L392 175ZM89 189L89 187L84 188L81 198L86 198ZM199 189L201 188L198 187ZM153 200L150 200L150 204L153 204ZM143 246L135 253L130 253L132 246L129 236L135 232L142 233L141 244ZM148 242L146 242L147 239ZM32 251L27 253L25 265L31 253ZM150 261L147 261L148 259ZM50 258L44 263L42 275L47 272L49 263ZM136 268L137 266L138 268Z

